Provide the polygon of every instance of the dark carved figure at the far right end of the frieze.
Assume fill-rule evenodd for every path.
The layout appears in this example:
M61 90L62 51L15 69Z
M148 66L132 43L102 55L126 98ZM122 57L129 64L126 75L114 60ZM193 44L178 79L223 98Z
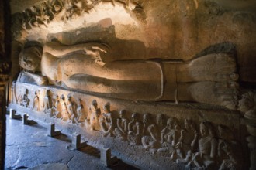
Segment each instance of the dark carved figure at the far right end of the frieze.
M234 140L234 135L230 128L227 126L219 125L219 145L218 145L218 156L221 162L220 170L224 169L239 169L237 167L237 153L240 146L237 144L237 141Z

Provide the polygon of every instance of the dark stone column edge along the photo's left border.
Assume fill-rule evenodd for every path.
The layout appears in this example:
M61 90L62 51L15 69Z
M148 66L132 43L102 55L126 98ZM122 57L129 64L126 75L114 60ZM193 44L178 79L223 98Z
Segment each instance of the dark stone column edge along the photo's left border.
M11 70L10 23L9 1L0 1L0 169L4 169L5 162L5 88Z

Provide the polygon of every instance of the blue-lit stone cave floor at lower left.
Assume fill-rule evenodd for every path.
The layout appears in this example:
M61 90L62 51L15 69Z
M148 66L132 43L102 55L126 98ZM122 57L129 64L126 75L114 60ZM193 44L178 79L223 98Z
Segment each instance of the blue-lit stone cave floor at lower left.
M138 169L121 160L106 167L98 148L70 150L68 145L70 136L51 138L40 124L25 125L6 115L5 169Z

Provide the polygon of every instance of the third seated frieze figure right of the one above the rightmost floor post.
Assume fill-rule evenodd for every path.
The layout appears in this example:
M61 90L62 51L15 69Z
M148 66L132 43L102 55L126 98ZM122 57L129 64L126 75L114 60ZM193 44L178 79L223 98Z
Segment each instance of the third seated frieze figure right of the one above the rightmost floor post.
M160 146L160 140L157 136L157 125L153 123L151 114L144 114L143 116L143 137L141 143L144 148L158 148Z

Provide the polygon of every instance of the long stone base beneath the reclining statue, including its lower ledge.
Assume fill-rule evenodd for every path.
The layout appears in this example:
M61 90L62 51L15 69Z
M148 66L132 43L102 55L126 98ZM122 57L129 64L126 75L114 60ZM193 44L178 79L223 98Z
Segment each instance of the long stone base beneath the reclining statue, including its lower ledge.
M33 110L33 102L39 104L39 110ZM244 167L240 163L243 158L237 157L237 152L242 151L234 149L241 148L240 114L223 107L202 106L134 103L19 82L13 84L12 104L9 105L28 113L37 122L54 122L63 127L63 133L83 134L88 145L104 145L112 148L113 154L122 152L124 159L128 157L134 161L137 160L134 157L141 156L136 164L144 168L150 166L154 169L159 164L168 168L175 162L184 168L185 165L220 169ZM83 121L79 121L78 114L85 114ZM206 131L206 134L201 131ZM196 156L202 152L198 145L199 148L212 148L213 159ZM145 156L145 152L150 154ZM218 152L220 154L216 154ZM247 153L243 151L243 154ZM157 165L146 165L150 160ZM195 162L200 162L200 165Z

